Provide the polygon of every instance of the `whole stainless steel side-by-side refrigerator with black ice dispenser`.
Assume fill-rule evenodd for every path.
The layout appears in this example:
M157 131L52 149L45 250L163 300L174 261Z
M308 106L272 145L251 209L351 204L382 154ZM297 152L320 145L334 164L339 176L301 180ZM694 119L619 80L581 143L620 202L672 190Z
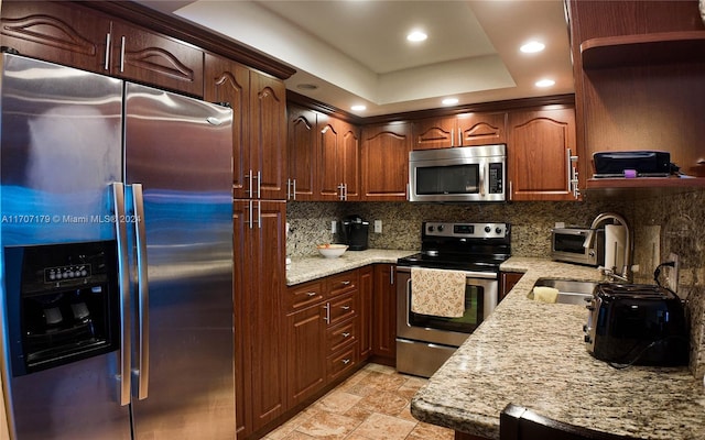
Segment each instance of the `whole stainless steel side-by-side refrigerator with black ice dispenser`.
M2 54L13 439L235 439L231 110Z

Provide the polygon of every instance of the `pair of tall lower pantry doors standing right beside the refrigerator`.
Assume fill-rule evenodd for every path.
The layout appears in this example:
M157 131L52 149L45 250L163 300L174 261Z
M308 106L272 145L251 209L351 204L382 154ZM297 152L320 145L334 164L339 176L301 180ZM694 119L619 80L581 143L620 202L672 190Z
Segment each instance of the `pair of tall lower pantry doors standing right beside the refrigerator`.
M235 200L234 212L236 359L242 362L236 365L236 383L245 387L236 408L242 417L238 424L245 425L241 436L248 436L282 415L286 404L286 205Z

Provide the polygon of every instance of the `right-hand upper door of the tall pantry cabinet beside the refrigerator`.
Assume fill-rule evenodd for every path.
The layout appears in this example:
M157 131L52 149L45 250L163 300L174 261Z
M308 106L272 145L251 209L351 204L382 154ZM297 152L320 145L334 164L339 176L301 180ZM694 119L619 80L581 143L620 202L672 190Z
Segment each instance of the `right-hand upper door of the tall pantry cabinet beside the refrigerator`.
M286 199L286 88L250 70L250 167L261 199Z

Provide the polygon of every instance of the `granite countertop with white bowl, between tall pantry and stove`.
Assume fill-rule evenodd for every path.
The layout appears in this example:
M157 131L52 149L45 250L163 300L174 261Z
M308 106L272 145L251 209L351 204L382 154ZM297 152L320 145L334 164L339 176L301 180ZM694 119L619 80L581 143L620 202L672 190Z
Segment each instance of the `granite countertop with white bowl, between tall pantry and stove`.
M286 285L310 282L324 276L367 266L375 263L397 263L402 256L413 255L419 251L390 251L368 249L367 251L347 251L337 258L324 258L321 255L293 257L286 267Z

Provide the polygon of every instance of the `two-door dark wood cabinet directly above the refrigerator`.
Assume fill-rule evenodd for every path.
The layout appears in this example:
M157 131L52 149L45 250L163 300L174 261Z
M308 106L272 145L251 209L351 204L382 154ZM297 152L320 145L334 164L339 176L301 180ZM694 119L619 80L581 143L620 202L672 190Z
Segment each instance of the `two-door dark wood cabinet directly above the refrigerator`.
M203 97L203 52L76 3L2 4L3 45L22 55Z

